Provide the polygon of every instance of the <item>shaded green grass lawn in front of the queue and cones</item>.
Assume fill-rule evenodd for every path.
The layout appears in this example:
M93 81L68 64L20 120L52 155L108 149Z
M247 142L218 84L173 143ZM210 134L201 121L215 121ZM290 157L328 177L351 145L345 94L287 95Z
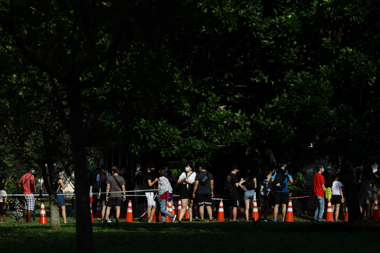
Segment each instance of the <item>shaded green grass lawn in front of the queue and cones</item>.
M69 215L69 212L68 212ZM49 222L49 215L48 222ZM61 218L62 220L62 218ZM280 220L280 218L279 218ZM95 220L93 236L96 252L356 252L376 250L380 222L365 222L361 228L351 228L345 222L311 222L311 217L294 217L295 222L183 222L155 223L146 220L120 222L112 228ZM62 221L63 223L63 221ZM28 248L32 251L75 249L75 220L52 230L49 224L15 223L8 219L0 223L2 248ZM114 223L112 223L114 224ZM78 242L81 243L81 242ZM165 245L165 246L164 246ZM165 250L164 250L165 249Z

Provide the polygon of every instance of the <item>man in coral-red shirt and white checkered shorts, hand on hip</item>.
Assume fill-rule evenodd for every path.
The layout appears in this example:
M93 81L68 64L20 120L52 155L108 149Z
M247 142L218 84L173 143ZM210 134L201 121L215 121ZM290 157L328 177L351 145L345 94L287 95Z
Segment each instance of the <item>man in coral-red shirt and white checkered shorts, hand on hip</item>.
M36 185L34 182L34 168L28 167L26 168L27 173L21 177L21 179L17 182L17 185L21 188L22 194L25 194L25 222L30 223L30 219L32 218L32 210L35 205L35 198L33 194L36 193Z

